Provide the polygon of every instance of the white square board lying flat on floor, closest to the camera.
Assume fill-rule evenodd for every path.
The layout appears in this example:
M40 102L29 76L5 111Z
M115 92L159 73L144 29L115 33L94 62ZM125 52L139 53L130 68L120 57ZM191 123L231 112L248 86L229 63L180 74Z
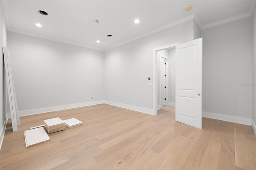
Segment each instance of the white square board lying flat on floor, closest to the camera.
M24 131L24 137L26 148L32 145L50 141L50 137L47 135L43 127Z

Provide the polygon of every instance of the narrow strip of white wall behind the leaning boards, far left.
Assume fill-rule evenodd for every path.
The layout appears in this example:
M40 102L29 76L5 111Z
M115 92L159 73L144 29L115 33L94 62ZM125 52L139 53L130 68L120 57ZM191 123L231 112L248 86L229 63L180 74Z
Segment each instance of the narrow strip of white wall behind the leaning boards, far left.
M5 113L4 113L4 97L3 97L3 52L2 47L6 46L6 26L4 20L4 12L2 7L2 0L0 0L0 148L2 145L2 139L4 138L4 128L5 128Z

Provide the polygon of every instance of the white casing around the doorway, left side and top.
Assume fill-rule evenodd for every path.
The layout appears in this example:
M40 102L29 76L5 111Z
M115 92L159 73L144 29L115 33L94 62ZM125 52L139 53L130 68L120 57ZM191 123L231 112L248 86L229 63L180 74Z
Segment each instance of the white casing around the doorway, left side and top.
M174 43L170 45L165 45L162 47L154 48L153 49L153 115L157 115L157 80L158 80L158 75L157 75L157 51L165 50L165 49L170 49L173 48L177 45L180 45L180 43Z

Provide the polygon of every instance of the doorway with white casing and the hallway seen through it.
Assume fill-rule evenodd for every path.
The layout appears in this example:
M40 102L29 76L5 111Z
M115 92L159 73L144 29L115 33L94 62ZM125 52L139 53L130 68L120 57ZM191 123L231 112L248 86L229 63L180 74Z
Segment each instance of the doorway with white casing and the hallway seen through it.
M161 106L175 106L175 53L179 44L153 50L153 115Z

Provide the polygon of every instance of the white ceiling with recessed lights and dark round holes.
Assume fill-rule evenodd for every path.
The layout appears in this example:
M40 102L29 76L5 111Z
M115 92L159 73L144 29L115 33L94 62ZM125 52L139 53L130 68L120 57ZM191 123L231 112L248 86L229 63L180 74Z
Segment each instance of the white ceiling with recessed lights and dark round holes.
M106 50L194 18L201 29L252 16L250 0L2 0L8 31ZM186 12L184 9L192 6ZM43 10L48 16L38 13ZM196 15L193 15L196 14ZM140 23L134 23L139 19ZM94 20L98 20L99 23ZM42 27L37 27L40 23ZM112 35L107 37L106 35ZM96 40L100 40L97 43Z

